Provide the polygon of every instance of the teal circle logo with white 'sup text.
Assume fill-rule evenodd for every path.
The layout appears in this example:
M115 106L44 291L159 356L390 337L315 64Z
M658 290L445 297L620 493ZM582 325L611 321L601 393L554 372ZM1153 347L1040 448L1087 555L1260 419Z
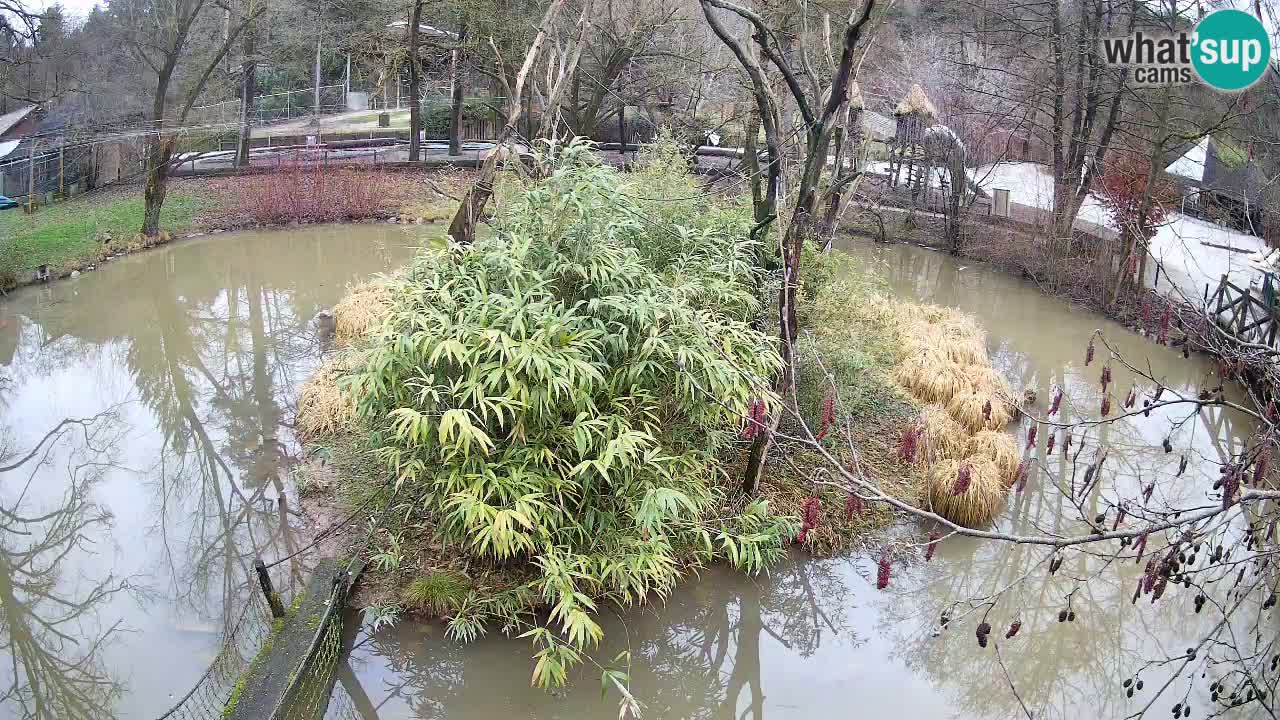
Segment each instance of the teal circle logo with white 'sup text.
M1216 90L1244 90L1271 64L1271 38L1262 22L1243 10L1215 10L1196 26L1192 65Z

